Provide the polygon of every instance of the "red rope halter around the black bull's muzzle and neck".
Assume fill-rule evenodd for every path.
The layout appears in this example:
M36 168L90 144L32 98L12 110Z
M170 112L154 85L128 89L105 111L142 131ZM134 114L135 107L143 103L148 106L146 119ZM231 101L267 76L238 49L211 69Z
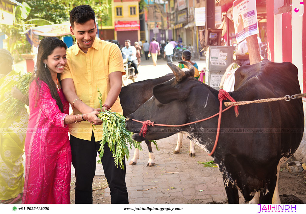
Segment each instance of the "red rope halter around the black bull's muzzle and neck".
M150 120L146 120L146 121L140 121L140 120L135 120L135 119L132 119L132 120L136 121L136 122L139 122L139 123L142 123L142 127L140 129L139 135L141 135L141 133L142 133L142 135L145 137L146 134L147 134L147 131L148 131L148 128L147 128L148 125L149 126L181 127L181 126L186 126L186 125L190 125L190 124L199 123L199 122L202 122L204 120L209 120L209 119L219 115L215 145L214 145L213 149L211 150L211 153L208 154L208 155L212 155L215 152L215 149L217 147L218 138L219 138L219 134L220 134L221 114L222 114L222 112L225 112L227 109L230 109L231 107L233 107L233 105L231 105L231 106L227 107L226 109L222 110L222 101L226 100L226 99L229 99L231 102L236 102L234 100L234 98L232 98L230 96L230 94L228 92L226 92L225 90L223 90L223 89L219 90L218 99L219 99L219 103L220 103L220 105L219 105L219 112L218 113L216 113L216 114L214 114L214 115L212 115L210 117L207 117L205 119L197 120L197 121L186 123L186 124L181 124L181 125L155 124L154 121L151 122ZM239 115L238 106L236 105L234 108L235 108L235 115L237 117Z

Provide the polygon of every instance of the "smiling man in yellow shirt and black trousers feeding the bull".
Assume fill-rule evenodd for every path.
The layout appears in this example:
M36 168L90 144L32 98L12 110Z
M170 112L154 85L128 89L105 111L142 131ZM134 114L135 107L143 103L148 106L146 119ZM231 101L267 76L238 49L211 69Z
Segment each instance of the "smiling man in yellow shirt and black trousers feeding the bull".
M125 71L119 47L96 38L95 12L88 5L77 6L70 11L70 24L76 44L67 50L67 65L61 81L73 113L90 113L99 108L98 87L104 103L101 110L112 109L123 114L118 96ZM72 164L76 174L76 204L92 203L92 179L103 134L101 126L93 130L92 124L101 125L102 121L97 117L94 121L69 125ZM125 170L115 166L106 144L102 164L110 187L111 203L129 203Z

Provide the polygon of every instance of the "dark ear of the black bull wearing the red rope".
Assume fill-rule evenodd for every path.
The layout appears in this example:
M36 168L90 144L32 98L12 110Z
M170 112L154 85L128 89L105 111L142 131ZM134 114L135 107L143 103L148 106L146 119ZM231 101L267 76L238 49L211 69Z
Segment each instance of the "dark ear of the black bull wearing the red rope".
M153 88L154 97L162 104L167 104L174 100L183 101L188 97L188 94L188 91L165 84L159 84Z

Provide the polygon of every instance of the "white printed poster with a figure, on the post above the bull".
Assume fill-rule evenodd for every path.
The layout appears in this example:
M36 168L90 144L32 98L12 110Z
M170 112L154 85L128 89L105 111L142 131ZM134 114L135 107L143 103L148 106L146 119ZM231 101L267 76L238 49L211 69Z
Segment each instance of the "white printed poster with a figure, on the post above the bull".
M233 19L237 42L258 34L256 0L234 1Z

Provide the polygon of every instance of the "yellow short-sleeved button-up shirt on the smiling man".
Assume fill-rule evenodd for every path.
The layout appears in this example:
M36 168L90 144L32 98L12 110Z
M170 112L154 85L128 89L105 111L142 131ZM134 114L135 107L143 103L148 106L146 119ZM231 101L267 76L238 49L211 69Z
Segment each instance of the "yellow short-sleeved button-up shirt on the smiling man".
M102 94L102 102L110 91L109 74L120 71L125 74L123 60L119 47L111 42L95 38L91 48L84 53L77 43L67 49L67 64L61 79L71 78L74 82L76 95L88 106L99 108L100 96L97 87ZM73 114L81 114L73 108ZM112 106L112 111L123 115L119 97ZM69 124L69 132L76 138L91 140L92 124L82 121L80 124ZM102 125L97 125L94 130L95 141L102 140Z

